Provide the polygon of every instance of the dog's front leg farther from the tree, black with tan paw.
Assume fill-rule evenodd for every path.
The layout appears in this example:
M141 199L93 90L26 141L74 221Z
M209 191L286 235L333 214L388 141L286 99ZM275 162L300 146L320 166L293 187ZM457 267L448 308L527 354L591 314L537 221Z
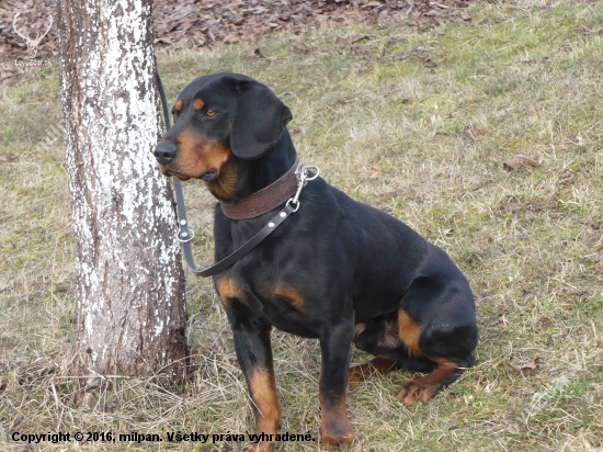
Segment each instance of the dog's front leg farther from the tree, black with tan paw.
M345 386L353 335L354 323L341 319L323 327L320 337L320 432L322 442L329 445L346 445L354 440L354 430L345 413Z

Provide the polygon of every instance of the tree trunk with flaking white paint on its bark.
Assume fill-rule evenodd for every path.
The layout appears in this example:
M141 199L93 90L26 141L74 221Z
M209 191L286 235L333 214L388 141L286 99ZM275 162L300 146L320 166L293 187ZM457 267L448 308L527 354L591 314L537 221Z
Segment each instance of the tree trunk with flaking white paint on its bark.
M151 154L152 1L58 9L80 373L173 381L186 366L186 312L172 197Z

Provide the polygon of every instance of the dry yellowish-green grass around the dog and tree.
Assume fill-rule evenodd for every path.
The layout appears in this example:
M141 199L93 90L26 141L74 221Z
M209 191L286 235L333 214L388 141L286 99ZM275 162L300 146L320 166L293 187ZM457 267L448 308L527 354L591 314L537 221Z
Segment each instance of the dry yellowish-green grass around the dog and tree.
M302 161L446 249L471 283L478 365L425 405L397 402L409 372L361 384L348 397L354 451L603 449L603 7L519 7L477 4L470 22L421 34L385 23L275 36L257 45L266 58L250 56L251 45L158 55L172 100L213 71L272 87L294 112ZM335 46L352 33L369 35L364 48ZM294 48L302 42L308 54ZM64 150L60 140L36 148L60 121L57 69L25 74L0 105L0 449L21 450L14 431L251 431L224 312L191 274L194 378L173 392L118 378L76 403ZM515 154L543 165L504 171ZM201 184L185 190L201 267L212 257L213 201ZM283 431L317 436L318 343L281 332L273 342Z

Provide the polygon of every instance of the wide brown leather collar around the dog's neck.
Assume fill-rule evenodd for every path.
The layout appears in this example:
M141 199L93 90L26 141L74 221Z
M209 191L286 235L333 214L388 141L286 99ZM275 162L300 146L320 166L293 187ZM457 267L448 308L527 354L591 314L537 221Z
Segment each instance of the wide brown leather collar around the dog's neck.
M289 170L281 178L234 204L220 202L221 212L231 219L248 219L275 210L297 191L298 180L295 170L298 165L299 160L295 159Z

